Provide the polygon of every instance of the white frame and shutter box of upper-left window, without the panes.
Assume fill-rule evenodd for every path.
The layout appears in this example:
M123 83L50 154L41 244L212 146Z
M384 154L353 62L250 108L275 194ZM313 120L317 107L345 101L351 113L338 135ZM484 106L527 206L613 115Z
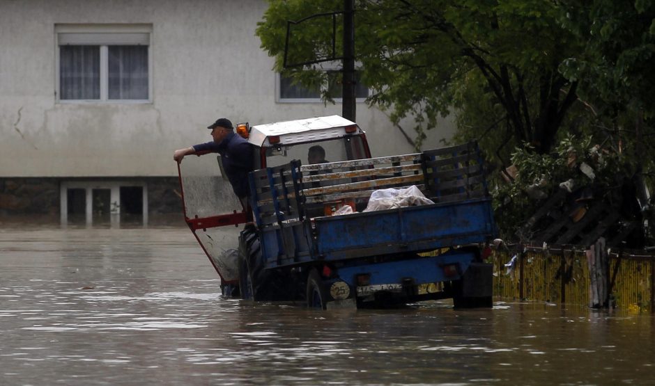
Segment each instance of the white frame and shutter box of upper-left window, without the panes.
M111 40L123 45L137 45L147 34L148 47L148 99L109 99L108 45L102 44L111 35ZM152 24L55 24L55 95L58 104L151 104L153 103L153 26ZM100 47L100 99L61 99L59 84L59 45L60 41L84 42ZM97 41L97 42L95 42Z

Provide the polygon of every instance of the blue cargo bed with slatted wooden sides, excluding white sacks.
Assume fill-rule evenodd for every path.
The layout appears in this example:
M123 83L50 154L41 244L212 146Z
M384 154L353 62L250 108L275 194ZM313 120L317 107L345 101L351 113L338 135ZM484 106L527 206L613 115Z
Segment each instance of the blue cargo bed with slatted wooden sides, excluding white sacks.
M252 205L265 266L425 252L493 236L477 145L252 172ZM367 211L382 188L417 186L434 204ZM350 203L357 213L325 216Z

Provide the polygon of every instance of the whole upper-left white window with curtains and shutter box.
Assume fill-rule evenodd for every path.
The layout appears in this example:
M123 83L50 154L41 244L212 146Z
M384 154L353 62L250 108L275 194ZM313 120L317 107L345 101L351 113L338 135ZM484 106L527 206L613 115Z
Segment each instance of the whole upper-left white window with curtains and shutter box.
M149 101L149 28L57 26L57 46L60 102Z

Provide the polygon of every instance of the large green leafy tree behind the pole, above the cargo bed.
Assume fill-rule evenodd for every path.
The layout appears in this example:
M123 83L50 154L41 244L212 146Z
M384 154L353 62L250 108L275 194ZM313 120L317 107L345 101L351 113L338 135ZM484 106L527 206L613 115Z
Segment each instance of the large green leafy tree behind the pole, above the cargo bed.
M341 7L341 1L271 1L256 33L275 56L275 70L305 86L323 83L327 75L317 65L284 68L286 21ZM374 90L367 102L389 109L394 122L412 115L420 134L436 127L440 115L476 108L468 103L473 93L493 112L487 122L498 122L504 143L532 143L538 152L553 146L578 84L558 68L580 49L558 22L555 2L360 0L355 9L360 78ZM331 23L326 17L292 30L288 57L326 56Z

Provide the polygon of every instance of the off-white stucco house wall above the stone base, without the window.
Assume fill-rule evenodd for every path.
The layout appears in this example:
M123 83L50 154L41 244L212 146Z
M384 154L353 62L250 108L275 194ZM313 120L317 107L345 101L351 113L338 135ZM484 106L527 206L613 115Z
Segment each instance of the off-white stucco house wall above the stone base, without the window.
M0 177L173 176L173 151L210 140L205 127L219 117L260 124L340 114L340 104L275 102L272 58L254 35L265 7L0 0ZM151 24L152 102L58 103L56 24ZM413 151L384 113L358 104L357 122L374 156ZM424 147L451 131L442 125Z

